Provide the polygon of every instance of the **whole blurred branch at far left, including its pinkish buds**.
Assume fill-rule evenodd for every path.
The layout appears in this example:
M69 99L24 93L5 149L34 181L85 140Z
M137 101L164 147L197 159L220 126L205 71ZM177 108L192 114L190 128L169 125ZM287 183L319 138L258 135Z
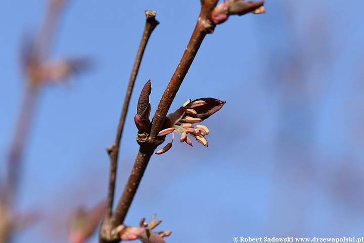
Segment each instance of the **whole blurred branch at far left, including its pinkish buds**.
M22 47L22 69L26 89L8 154L7 184L0 188L0 242L7 242L19 223L15 204L21 173L22 156L30 134L38 95L42 87L63 82L89 66L87 58L51 59L50 53L59 19L66 0L49 1L45 17L34 39L25 39ZM35 217L36 218L36 217ZM34 221L34 220L33 220ZM29 224L29 223L28 223Z

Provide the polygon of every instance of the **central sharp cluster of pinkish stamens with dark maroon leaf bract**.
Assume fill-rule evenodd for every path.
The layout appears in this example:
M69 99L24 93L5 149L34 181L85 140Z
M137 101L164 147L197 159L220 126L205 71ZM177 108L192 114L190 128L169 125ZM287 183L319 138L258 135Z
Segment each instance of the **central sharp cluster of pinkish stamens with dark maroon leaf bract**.
M207 147L208 142L205 136L209 134L209 129L204 125L193 124L201 123L204 119L220 110L223 104L225 104L224 101L214 98L201 98L194 101L189 99L175 112L167 115L163 125L165 129L160 131L158 136L165 136L172 133L172 141L162 149L158 150L156 154L165 153L172 147L174 132L180 135L180 142L186 142L187 144L193 146L191 139L187 136L190 135L191 137L195 138L196 141Z

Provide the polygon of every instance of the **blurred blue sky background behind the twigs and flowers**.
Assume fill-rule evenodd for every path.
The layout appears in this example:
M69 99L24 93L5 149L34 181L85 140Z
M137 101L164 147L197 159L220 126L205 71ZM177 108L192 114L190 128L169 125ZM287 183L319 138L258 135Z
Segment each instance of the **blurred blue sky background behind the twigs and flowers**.
M25 80L24 33L46 1L0 1L0 178ZM156 213L167 242L233 237L364 236L364 2L275 1L207 35L172 104L214 97L209 147L153 155L126 224ZM121 142L116 198L138 151L133 116L152 80L154 113L200 10L190 1L70 1L52 57L91 56L92 71L42 89L23 157L17 209L41 221L14 242L65 242L67 217L106 197L109 157L145 23L148 43ZM167 136L167 140L170 137ZM94 235L89 242L97 242Z

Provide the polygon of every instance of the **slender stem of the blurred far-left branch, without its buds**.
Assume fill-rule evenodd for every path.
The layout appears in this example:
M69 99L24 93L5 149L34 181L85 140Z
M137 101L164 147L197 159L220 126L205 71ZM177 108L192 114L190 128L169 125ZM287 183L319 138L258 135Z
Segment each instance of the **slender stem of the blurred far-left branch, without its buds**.
M50 54L59 17L65 0L52 0L49 2L41 28L35 37L32 45L23 48L22 62L27 79L23 103L21 105L19 118L15 128L14 138L9 149L8 156L8 184L7 197L10 205L14 205L21 159L24 153L25 144L28 140L32 124L36 101L42 84L42 75L39 67Z

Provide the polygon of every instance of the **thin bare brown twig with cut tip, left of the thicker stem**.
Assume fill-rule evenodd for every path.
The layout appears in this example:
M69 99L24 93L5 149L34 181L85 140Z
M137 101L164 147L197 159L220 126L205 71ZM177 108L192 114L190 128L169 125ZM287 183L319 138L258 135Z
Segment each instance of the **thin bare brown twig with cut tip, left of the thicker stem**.
M145 28L144 28L144 32L143 32L143 37L142 37L142 41L141 41L141 44L138 49L138 53L136 54L134 66L131 71L131 76L129 79L129 85L128 85L128 89L126 91L124 105L123 105L121 116L120 116L120 121L119 121L119 126L118 126L118 130L117 130L117 134L116 134L115 143L108 148L108 152L110 154L110 159L111 159L111 169L110 169L110 181L109 181L109 190L108 190L108 196L107 196L107 205L106 205L106 209L105 209L104 219L110 218L111 212L112 212L120 139L121 139L123 128L124 128L124 122L125 122L126 113L127 113L128 107L129 107L131 93L132 93L132 90L134 87L135 78L136 78L136 75L138 74L139 66L141 64L144 50L147 46L149 37L151 36L154 28L159 24L159 22L155 19L156 11L146 11L146 16L147 16L147 18L146 18L146 24L145 24Z

